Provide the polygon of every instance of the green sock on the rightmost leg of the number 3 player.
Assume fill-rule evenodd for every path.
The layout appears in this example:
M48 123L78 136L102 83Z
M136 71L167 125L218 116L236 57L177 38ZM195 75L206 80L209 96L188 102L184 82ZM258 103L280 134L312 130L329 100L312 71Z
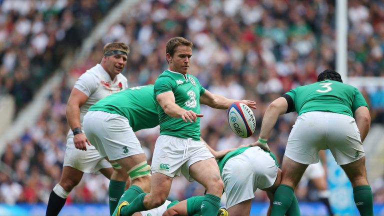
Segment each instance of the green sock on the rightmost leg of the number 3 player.
M369 185L353 187L353 199L360 215L373 216L373 196Z

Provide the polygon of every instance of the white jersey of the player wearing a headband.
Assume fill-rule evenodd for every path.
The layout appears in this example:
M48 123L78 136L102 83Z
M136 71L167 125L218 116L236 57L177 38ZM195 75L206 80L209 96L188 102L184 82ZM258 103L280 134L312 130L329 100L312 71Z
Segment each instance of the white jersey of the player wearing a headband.
M80 122L82 124L82 119L91 105L109 94L128 88L128 82L121 73L111 80L101 64L96 64L81 74L73 87L88 96L88 99L80 107Z

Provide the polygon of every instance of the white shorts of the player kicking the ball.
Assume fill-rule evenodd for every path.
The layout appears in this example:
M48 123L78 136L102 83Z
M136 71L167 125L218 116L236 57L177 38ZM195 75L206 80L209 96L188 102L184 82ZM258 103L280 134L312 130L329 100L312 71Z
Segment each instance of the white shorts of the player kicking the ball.
M151 171L163 173L169 177L179 176L192 181L189 166L193 163L213 157L205 144L191 138L178 138L169 135L158 136L154 145Z

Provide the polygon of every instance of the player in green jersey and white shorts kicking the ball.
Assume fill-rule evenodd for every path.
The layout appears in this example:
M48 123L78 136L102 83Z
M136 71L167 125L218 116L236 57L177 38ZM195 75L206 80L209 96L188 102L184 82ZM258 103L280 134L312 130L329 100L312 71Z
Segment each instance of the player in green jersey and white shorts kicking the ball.
M142 193L131 204L119 205L117 215L160 206L169 194L173 177L184 175L195 179L207 190L202 204L202 215L216 215L219 209L223 182L217 163L200 141L200 103L226 109L238 100L228 99L205 90L198 79L187 73L192 55L192 42L183 37L172 37L166 44L168 69L154 83L154 96L160 122L160 136L156 140L152 158L152 185L149 194ZM241 100L251 108L255 102Z

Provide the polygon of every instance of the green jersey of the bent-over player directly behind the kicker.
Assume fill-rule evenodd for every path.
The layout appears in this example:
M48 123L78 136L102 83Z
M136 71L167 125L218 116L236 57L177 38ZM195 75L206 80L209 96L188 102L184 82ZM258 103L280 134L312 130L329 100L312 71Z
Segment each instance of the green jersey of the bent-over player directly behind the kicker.
M129 120L133 131L158 125L153 85L131 87L108 95L89 107L88 111L119 114Z

